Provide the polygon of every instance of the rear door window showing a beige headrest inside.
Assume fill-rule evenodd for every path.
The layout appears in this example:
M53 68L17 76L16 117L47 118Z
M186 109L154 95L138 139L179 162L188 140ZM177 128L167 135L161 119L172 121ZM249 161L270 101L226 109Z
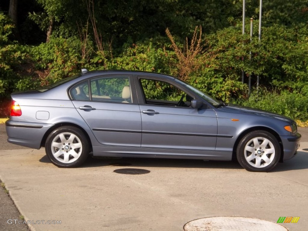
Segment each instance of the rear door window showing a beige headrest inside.
M110 77L91 80L93 101L132 103L128 77Z

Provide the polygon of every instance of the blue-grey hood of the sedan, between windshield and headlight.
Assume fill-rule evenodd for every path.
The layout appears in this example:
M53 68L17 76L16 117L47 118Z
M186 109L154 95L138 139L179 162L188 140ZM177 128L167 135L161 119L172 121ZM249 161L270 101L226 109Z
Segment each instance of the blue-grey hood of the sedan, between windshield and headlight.
M283 120L286 122L289 122L290 124L295 124L295 121L292 120L289 117L286 117L284 115L280 115L274 112L270 112L270 111L264 111L264 110L260 110L260 109L256 109L256 108L252 108L252 107L242 107L242 106L238 106L238 105L228 105L225 107L221 107L219 108L222 111L226 111L226 112L232 112L232 113L239 113L239 114L245 114L245 115L257 115L257 116L264 116L264 117L270 117L270 118L274 118L274 119L278 119L278 120Z

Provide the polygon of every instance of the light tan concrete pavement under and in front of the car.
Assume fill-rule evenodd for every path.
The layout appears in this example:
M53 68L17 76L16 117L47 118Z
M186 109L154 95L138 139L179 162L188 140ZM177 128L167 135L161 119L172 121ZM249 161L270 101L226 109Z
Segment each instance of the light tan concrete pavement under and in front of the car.
M180 231L188 221L213 216L300 217L284 225L306 230L307 154L308 142L302 142L293 159L254 173L234 162L91 157L67 169L51 164L43 149L2 150L0 179L26 220L40 223L30 225L37 231ZM127 168L150 172L114 172L138 173ZM42 224L47 221L61 224Z

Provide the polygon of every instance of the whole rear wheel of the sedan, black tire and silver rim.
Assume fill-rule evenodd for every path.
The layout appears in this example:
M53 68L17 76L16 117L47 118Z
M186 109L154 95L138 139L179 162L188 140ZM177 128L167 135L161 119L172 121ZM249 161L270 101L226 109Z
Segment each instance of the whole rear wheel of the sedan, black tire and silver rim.
M87 137L73 126L53 130L47 137L45 151L51 162L62 168L78 167L89 154Z

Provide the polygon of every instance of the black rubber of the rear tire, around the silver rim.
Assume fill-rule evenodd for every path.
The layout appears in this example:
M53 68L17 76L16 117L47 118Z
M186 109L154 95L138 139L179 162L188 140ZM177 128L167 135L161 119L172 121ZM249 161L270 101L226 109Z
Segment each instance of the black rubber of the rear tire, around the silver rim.
M62 162L58 161L52 155L51 142L56 136L58 136L60 133L63 133L63 132L70 132L70 133L73 133L75 136L78 136L78 138L80 139L81 144L82 144L82 152L81 152L79 158L72 163L62 163ZM55 130L53 130L49 134L49 136L46 139L46 143L45 143L45 152L46 152L49 160L54 165L56 165L57 167L74 168L74 167L78 167L81 164L83 164L83 162L87 159L87 156L89 154L89 147L88 147L87 143L88 143L87 137L84 135L84 133L79 128L76 128L76 127L73 127L73 126L63 126L63 127L56 128Z

